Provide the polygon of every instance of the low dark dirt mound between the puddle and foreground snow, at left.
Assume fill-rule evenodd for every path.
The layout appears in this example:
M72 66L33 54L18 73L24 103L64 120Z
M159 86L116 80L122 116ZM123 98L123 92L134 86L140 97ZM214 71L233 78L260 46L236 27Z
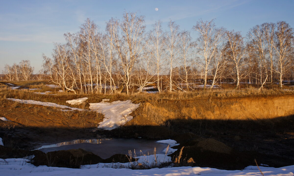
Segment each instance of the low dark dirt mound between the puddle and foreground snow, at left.
M81 148L59 150L35 155L32 163L36 166L47 165L54 167L79 168L81 165L102 163L104 160L92 152Z

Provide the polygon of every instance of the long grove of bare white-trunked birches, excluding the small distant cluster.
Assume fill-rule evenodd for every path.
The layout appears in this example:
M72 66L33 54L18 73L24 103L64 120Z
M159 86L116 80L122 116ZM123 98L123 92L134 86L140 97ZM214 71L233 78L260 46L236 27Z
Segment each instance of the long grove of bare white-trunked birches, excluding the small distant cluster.
M192 39L191 32L198 37ZM242 36L199 20L191 31L156 21L146 31L144 16L125 12L101 30L89 18L77 33L64 34L52 58L43 55L43 71L52 82L75 93L127 94L149 84L159 92L203 89L222 82L258 84L259 88L293 80L293 28L285 21L256 25ZM209 83L209 84L208 84Z

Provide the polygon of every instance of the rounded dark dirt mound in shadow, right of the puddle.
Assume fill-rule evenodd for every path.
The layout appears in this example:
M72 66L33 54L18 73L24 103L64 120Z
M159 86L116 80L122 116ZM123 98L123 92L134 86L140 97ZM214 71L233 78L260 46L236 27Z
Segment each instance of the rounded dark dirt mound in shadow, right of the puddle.
M180 163L187 164L190 158L193 158L193 166L198 167L213 167L219 169L235 170L244 169L248 165L252 165L253 158L237 152L228 147L224 143L208 138L197 142L190 141L194 145L185 146L183 148ZM180 150L172 153L170 156L175 160L179 155ZM189 163L191 165L191 163Z

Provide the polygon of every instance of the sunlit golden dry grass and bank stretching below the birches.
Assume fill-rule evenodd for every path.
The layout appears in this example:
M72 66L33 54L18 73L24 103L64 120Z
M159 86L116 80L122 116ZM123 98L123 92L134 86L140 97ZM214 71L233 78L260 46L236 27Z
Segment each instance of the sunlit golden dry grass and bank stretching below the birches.
M146 94L140 93L136 95L126 94L85 94L75 95L70 92L58 92L59 88L49 88L44 84L48 82L11 82L16 85L25 85L28 88L41 88L41 90L26 90L16 89L11 90L8 86L0 84L0 100L8 100L6 98L15 99L31 99L43 102L52 102L60 105L77 107L81 109L88 109L88 103L97 103L102 99L110 99L110 102L117 100L131 99L134 103L141 103L140 107L136 109L131 115L135 118L128 122L126 126L130 125L151 125L151 126L167 126L172 128L170 120L189 120L189 119L214 119L214 120L244 120L244 119L260 119L283 116L290 111L287 111L291 106L288 101L292 103L292 91L283 91L280 89L262 89L256 90L255 87L247 89L233 90L228 89L215 89L215 90L198 90L193 92L166 92L163 94ZM230 85L231 86L231 85ZM57 95L41 95L34 94L33 92L51 91L52 94ZM80 105L69 105L65 101L88 97L89 99ZM289 106L282 107L279 97L285 101ZM271 102L270 102L271 101ZM276 109L277 112L270 112L260 104L264 104L268 109ZM2 105L3 106L3 105ZM10 102L9 108L15 109L16 107L24 108L28 113L36 113L40 109L46 109L44 112L50 114L51 111L60 113L65 118L71 118L73 114L78 114L80 117L85 117L87 111L82 112L62 112L59 108L44 107L37 105L24 105L17 102ZM38 107L38 108L36 108ZM0 114L1 115L1 114ZM96 118L101 120L101 115L95 114ZM78 121L77 121L78 122ZM45 123L45 122L44 122Z

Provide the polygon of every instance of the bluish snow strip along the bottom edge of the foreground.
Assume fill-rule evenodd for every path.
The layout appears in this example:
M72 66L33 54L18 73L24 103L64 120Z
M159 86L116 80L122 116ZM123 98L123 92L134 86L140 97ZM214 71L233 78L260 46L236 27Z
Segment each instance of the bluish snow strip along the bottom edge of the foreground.
M21 158L0 159L1 176L78 176L78 175L138 175L138 176L192 176L192 175L209 175L209 176L259 176L261 175L256 166L248 166L244 170L219 170L209 167L169 167L169 168L154 168L148 170L131 170L131 169L114 169L108 167L97 167L97 165L89 165L80 169L71 169L63 167L36 167L26 163L29 160ZM98 166L102 166L100 163ZM274 168L261 167L264 175L267 176L293 176L294 165Z

